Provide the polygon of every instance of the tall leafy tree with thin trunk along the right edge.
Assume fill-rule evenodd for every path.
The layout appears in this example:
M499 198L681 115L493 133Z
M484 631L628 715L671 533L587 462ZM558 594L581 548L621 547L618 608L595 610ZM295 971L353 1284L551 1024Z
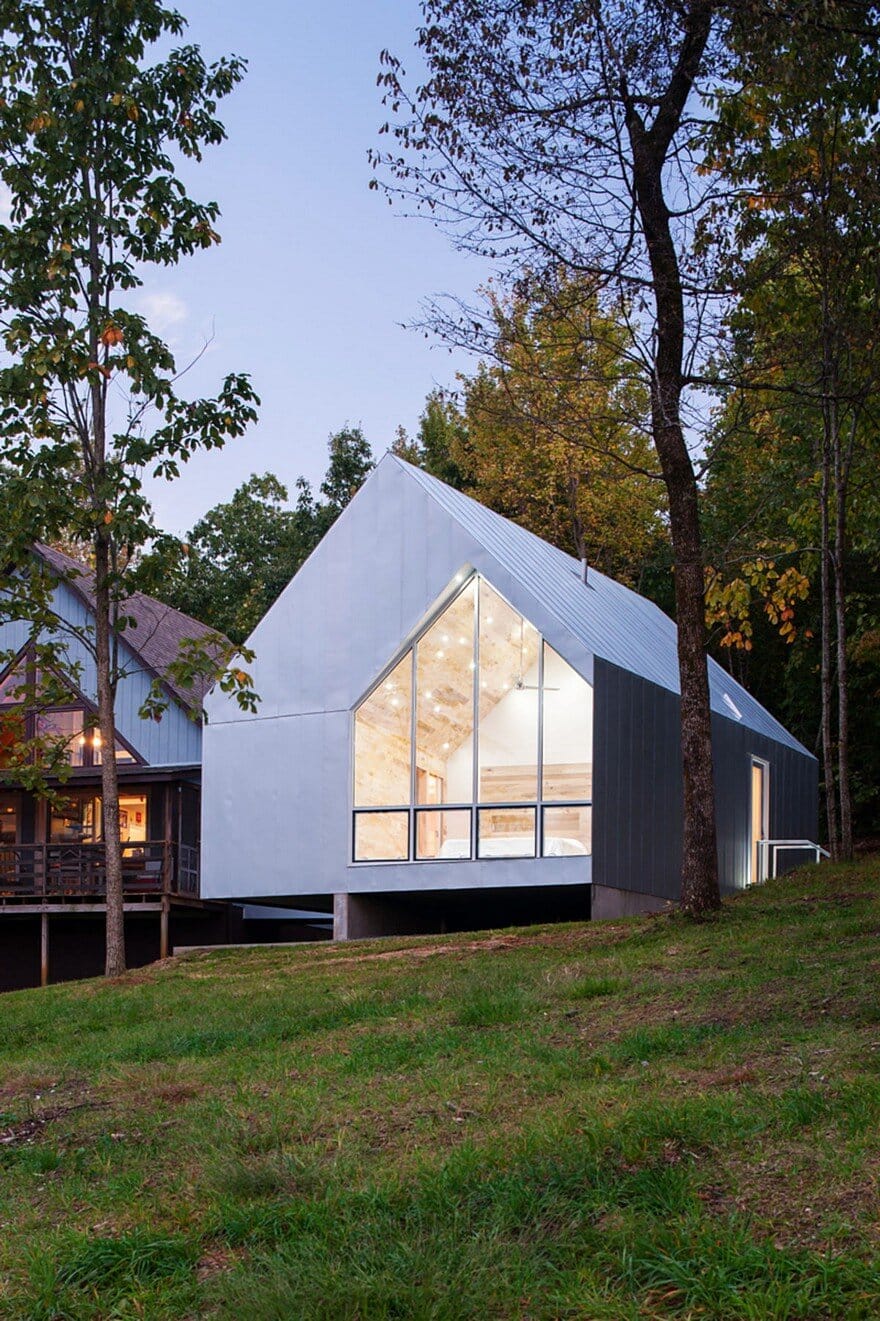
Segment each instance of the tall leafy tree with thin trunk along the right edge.
M712 219L732 221L724 256L743 291L739 387L757 392L752 412L777 398L811 493L797 522L801 544L818 547L822 760L828 840L842 857L852 852L852 514L879 457L877 22L875 5L830 5L810 29L784 13L757 30L735 21L741 91L715 99L707 160L727 184Z

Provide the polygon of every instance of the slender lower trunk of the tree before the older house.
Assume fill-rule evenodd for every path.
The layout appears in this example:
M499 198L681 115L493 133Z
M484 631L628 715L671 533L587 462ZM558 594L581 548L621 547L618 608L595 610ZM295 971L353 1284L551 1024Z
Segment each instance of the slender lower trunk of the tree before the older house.
M116 774L115 692L111 674L110 546L95 538L95 651L98 659L98 728L100 731L100 786L103 843L107 875L107 959L104 971L116 978L126 971L126 910L119 838L119 779Z

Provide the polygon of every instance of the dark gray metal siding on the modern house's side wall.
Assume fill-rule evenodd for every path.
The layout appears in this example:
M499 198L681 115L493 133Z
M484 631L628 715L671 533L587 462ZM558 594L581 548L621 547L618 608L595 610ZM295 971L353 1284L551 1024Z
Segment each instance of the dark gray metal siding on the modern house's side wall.
M679 699L599 658L593 678L593 881L675 900L682 867ZM752 757L770 764L776 839L817 838L818 766L813 757L717 715L712 741L719 873L731 890L748 877Z

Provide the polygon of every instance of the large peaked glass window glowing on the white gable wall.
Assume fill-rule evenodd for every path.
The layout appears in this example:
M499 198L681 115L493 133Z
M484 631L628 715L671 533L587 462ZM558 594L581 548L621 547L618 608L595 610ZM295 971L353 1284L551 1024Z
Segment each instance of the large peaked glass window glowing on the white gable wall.
M354 861L589 853L592 738L589 683L472 575L355 711Z

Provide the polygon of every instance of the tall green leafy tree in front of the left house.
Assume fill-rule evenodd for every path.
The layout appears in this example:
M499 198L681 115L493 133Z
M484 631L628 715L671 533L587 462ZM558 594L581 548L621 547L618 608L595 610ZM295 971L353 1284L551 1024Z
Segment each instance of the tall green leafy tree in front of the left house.
M173 478L198 449L218 448L255 419L247 376L215 398L184 399L168 346L133 297L152 267L218 242L218 209L193 199L176 161L223 140L217 103L240 59L206 65L194 45L151 62L184 18L160 0L1 0L0 177L11 221L0 226L0 461L11 472L3 520L7 617L57 634L52 594L28 547L58 535L87 548L94 629L81 642L96 666L99 731L114 746L119 641L139 548L156 530L144 473ZM62 647L59 646L59 662ZM223 670L217 649L186 650L178 680ZM252 704L247 675L223 683ZM145 713L163 709L159 690ZM107 872L107 972L124 968L119 793L102 765Z

